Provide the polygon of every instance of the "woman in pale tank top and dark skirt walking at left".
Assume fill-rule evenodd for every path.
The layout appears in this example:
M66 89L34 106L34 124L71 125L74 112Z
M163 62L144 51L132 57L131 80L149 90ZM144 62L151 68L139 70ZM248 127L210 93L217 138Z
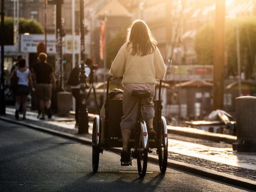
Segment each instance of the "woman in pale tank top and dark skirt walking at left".
M12 72L11 76L14 76L16 73L19 78L17 83L17 88L14 91L15 94L15 118L19 119L19 108L20 104L23 107L23 117L22 119L26 119L26 102L27 96L29 94L29 86L32 87L32 78L29 69L26 67L26 60L24 58L20 59L18 62L18 68Z

